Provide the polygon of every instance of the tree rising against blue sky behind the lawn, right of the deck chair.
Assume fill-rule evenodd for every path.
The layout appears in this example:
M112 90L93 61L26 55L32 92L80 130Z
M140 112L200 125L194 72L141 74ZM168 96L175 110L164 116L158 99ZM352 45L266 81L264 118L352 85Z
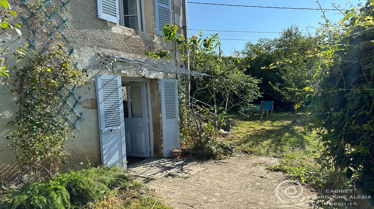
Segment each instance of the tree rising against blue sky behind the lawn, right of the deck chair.
M293 103L293 122L310 87L316 82L313 76L318 57L313 55L320 40L319 36L304 36L297 26L291 26L284 29L279 38L262 40L255 45L249 43L244 51L253 59L247 72L268 82L263 89L283 103ZM260 64L265 66L259 68Z

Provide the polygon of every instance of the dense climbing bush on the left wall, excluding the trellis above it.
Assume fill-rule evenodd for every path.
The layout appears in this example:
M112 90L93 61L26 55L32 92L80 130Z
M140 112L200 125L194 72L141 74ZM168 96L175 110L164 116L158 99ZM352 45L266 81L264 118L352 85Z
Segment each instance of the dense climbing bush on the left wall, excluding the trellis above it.
M77 71L69 57L57 49L36 55L15 74L18 112L8 122L14 129L7 138L12 139L22 173L36 175L40 169L58 164L68 139L69 127L62 120L66 110L58 92L64 95L63 87L82 86L87 79L84 71Z

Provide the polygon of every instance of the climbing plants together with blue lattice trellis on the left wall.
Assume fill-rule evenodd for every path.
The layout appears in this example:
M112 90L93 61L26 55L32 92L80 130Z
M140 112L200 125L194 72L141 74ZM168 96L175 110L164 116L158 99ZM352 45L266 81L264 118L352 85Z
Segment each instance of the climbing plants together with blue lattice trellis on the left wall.
M23 0L19 5L27 7L29 12L18 16L23 21L22 27L30 31L29 38L36 39L26 38L27 43L13 55L18 59L24 58L26 64L14 67L14 73L7 74L3 66L10 66L10 63L5 63L2 57L11 55L6 54L8 50L2 50L1 54L0 76L9 77L18 106L15 118L8 122L8 127L12 129L7 138L12 140L11 146L15 148L21 173L29 176L39 177L45 172L52 175L64 163L61 155L71 136L70 131L79 129L78 122L83 120L82 113L75 110L76 105L81 103L80 97L73 91L88 84L87 70L78 70L78 63L70 58L75 47L66 53L62 45L70 44L62 32L69 20L63 17L62 11L68 10L69 2ZM6 0L0 0L1 5L4 9L0 12L0 36L4 35L4 31L20 26L9 23L6 16L11 14L15 17L20 12L9 10ZM21 35L18 30L17 33ZM7 43L5 49L11 43ZM76 118L75 121L73 118Z

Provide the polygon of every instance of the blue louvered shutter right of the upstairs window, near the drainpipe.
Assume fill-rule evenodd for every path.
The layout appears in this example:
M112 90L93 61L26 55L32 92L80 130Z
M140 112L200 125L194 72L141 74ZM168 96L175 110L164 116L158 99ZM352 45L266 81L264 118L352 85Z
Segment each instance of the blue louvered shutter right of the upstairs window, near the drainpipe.
M172 22L170 0L155 0L156 34L163 35L165 23Z

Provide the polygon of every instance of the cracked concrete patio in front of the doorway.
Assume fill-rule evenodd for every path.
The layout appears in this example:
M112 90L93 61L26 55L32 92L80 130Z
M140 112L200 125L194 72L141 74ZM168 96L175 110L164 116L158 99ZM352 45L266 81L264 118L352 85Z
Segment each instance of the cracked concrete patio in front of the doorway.
M288 179L281 172L267 172L267 165L278 163L276 158L245 156L219 161L154 159L143 168L139 164L131 169L148 177L144 180L158 198L176 209L313 208L315 202L308 196L317 193L285 182Z

